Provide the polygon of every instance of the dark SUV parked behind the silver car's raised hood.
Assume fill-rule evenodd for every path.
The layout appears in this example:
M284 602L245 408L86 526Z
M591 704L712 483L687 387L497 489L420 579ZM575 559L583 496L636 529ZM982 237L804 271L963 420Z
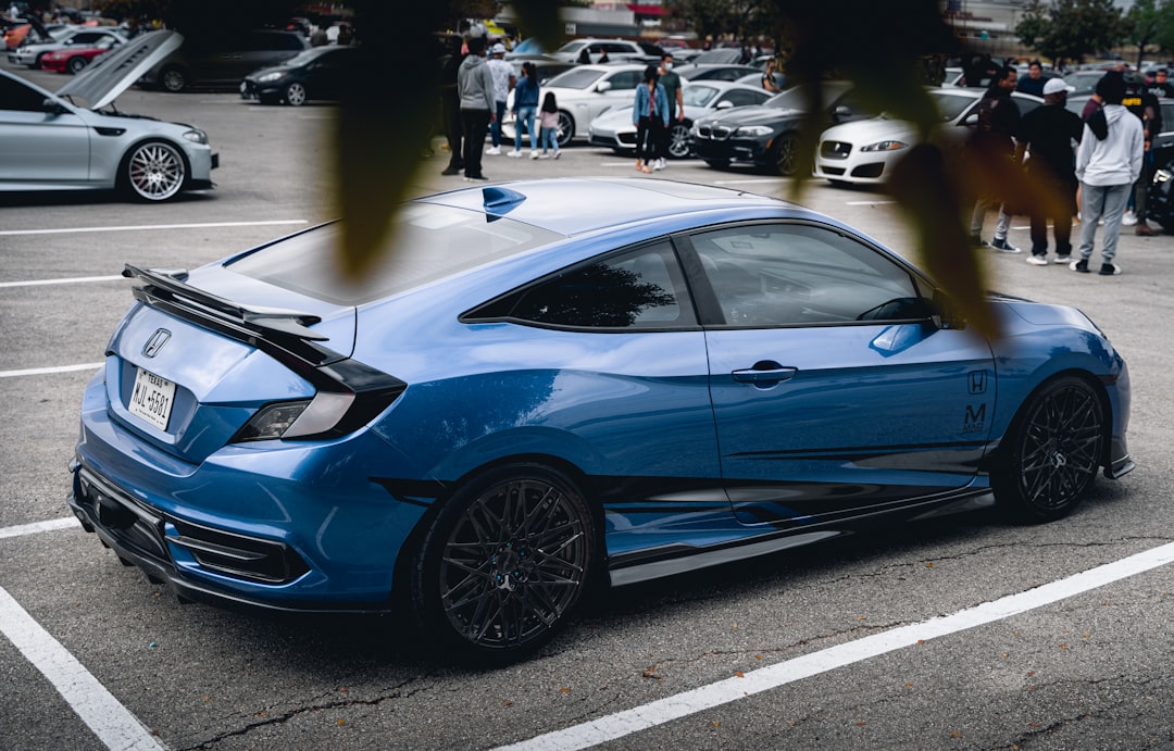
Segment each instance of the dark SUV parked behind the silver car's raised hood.
M236 89L254 70L284 62L308 48L305 38L297 32L274 29L210 41L187 39L182 47L148 70L140 83L167 92L189 87Z

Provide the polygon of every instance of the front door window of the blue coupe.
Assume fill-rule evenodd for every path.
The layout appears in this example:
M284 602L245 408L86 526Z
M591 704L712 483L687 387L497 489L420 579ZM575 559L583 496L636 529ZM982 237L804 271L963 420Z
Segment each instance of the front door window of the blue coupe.
M810 224L726 228L693 236L731 326L912 320L929 316L910 273L839 232Z

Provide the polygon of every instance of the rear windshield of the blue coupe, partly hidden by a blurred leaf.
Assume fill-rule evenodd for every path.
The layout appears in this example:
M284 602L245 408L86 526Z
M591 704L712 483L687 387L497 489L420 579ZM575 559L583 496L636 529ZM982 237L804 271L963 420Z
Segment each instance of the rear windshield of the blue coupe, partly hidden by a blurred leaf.
M359 282L340 272L342 223L328 224L231 261L237 273L337 305L362 305L546 245L562 236L479 211L402 207L375 268Z

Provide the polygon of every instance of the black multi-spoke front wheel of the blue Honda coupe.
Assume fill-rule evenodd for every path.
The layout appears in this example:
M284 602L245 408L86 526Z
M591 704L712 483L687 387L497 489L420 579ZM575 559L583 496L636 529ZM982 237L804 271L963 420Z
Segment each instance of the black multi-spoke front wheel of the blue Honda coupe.
M1097 476L1105 447L1105 406L1072 376L1032 394L999 447L991 480L1000 506L1024 521L1065 516Z

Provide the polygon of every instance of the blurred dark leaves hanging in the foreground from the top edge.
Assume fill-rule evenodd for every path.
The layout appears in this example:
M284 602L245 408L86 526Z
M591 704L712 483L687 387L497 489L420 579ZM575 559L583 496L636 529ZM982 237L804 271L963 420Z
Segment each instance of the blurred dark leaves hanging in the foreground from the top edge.
M554 48L562 31L558 5L513 5L524 35ZM439 66L431 65L438 55L434 31L450 19L444 2L417 2L407 14L399 6L383 0L357 5L356 27L370 75L339 107L335 192L336 211L346 219L339 257L352 276L362 276L389 246L390 217L407 198L423 164L420 154L436 133L440 80ZM958 158L959 149L943 146L938 137L937 111L924 88L924 60L954 52L957 40L937 0L774 0L771 9L789 80L851 80L875 111L918 124L920 142L899 164L889 191L916 230L922 268L952 296L970 325L996 334L980 258L970 244L970 208L979 192L998 195L996 188L1021 185L1025 177L1005 156ZM818 87L809 88L815 101L802 147L811 163L823 102ZM787 197L798 199L803 189L804 182L796 181Z

